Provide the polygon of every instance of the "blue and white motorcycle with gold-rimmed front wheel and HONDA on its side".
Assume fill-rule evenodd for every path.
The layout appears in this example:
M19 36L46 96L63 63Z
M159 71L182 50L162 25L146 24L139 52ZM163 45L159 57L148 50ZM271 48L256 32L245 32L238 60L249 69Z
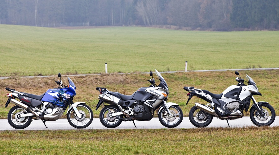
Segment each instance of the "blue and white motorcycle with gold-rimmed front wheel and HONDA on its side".
M61 81L60 73L58 78L60 81L55 81L59 85L58 88L49 89L42 95L33 95L6 88L11 93L7 95L9 99L5 108L9 103L16 105L8 113L8 122L13 128L24 129L28 127L33 117L33 120L41 119L46 126L46 121L59 119L68 106L67 119L71 126L85 128L91 124L93 120L91 108L85 102L73 102L73 97L76 95L76 86L73 81L68 77L69 85L65 86Z

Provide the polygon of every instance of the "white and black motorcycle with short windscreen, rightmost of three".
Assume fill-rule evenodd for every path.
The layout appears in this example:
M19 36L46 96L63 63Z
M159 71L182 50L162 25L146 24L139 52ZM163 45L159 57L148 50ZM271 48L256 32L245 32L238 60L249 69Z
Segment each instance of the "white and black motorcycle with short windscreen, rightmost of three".
M236 75L239 73L236 71ZM229 86L222 94L213 94L207 90L195 89L192 87L184 87L184 90L189 91L188 102L193 96L197 96L205 100L207 105L195 103L189 112L190 122L196 127L208 126L213 116L222 120L231 120L242 118L243 111L249 109L250 101L253 104L250 108L250 119L256 126L269 126L275 120L275 110L268 102L256 102L254 95L262 95L258 91L256 83L246 75L247 81L237 77L235 80L237 85ZM244 84L244 82L247 83ZM229 123L228 123L229 126Z

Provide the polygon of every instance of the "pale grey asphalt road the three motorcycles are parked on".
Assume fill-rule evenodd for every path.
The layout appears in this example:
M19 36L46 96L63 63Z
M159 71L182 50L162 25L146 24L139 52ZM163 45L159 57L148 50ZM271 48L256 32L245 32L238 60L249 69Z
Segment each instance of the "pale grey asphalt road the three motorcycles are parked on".
M229 124L231 127L245 127L245 126L255 126L251 120L250 117L243 117L236 120L229 120ZM31 124L23 129L23 130L75 130L76 128L72 127L67 119L58 119L57 121L47 121L46 122L47 128L44 126L43 122L41 120L34 120L31 122ZM166 128L163 126L159 119L153 118L150 121L135 121L134 126L133 122L122 122L118 127L114 129L163 129ZM279 126L279 116L276 116L275 121L272 123L271 126ZM226 120L220 120L216 117L213 117L213 121L208 127L228 127ZM189 117L184 117L183 121L179 126L176 128L196 128L191 124L189 121ZM84 128L84 129L108 129L104 127L99 118L94 118L93 122L90 126ZM83 130L84 130L83 129ZM16 130L13 127L10 126L8 123L8 120L1 119L0 120L0 131L3 130Z

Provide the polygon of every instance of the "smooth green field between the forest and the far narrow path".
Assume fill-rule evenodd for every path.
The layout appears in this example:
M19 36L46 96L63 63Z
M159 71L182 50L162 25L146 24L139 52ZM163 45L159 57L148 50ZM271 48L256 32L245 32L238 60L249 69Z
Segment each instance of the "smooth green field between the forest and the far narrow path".
M279 67L278 31L0 25L0 77Z

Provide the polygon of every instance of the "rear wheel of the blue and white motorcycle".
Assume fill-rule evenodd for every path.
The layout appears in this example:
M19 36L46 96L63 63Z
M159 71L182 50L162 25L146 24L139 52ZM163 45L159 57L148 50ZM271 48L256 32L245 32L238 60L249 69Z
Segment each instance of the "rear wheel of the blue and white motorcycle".
M15 129L24 129L32 122L32 116L16 118L19 113L30 112L16 105L12 107L8 113L8 122Z

